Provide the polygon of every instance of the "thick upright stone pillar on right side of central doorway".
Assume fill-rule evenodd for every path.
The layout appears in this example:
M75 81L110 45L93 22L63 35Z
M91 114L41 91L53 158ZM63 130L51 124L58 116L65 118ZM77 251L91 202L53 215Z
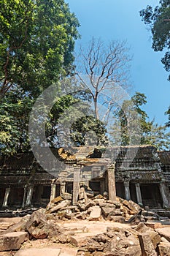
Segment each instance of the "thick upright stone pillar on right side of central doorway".
M109 200L116 201L115 164L108 167L108 190Z

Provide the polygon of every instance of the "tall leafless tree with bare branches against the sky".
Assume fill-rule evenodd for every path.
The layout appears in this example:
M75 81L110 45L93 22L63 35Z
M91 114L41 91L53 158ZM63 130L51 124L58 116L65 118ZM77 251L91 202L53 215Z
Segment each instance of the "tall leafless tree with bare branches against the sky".
M82 87L88 89L92 97L96 118L105 123L109 113L123 97L120 88L128 87L130 60L125 42L112 41L104 45L101 39L92 38L87 48L80 48L77 75ZM102 116L100 105L105 107Z

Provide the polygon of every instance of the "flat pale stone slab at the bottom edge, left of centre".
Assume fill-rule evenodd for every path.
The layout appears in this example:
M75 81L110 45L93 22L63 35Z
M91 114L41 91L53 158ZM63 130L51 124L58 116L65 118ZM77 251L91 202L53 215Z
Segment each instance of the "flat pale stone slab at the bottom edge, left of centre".
M20 249L15 256L59 256L61 255L61 249L55 248L29 248L29 249Z

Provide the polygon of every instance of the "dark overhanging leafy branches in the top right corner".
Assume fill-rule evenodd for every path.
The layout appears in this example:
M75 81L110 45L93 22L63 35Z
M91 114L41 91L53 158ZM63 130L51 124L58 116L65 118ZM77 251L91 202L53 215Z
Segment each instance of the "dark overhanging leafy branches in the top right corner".
M163 59L161 59L167 72L170 71L170 2L169 0L159 1L159 5L153 9L147 6L140 11L142 20L150 25L152 31L152 48L155 51L167 50ZM170 80L170 75L169 75Z

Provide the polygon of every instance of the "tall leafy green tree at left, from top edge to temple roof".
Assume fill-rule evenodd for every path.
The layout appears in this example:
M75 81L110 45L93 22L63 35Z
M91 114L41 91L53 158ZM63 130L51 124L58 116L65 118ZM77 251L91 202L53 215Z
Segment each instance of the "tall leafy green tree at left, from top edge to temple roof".
M0 148L4 154L30 149L29 113L43 89L72 75L78 26L63 0L0 1ZM58 115L68 108L68 101L69 96L58 99ZM51 116L47 127L50 121Z

